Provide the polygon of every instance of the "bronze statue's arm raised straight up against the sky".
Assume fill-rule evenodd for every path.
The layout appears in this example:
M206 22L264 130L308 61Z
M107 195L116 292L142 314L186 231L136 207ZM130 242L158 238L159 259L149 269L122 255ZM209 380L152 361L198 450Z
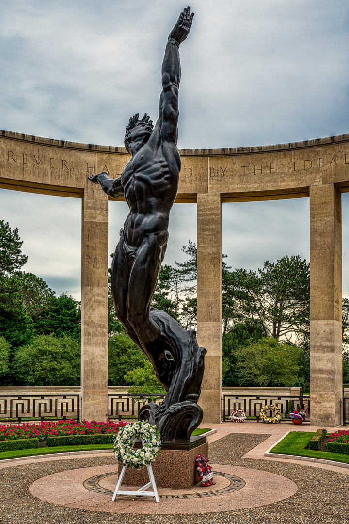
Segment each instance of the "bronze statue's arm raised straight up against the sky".
M177 143L178 122L178 86L181 80L181 63L179 62L179 45L189 35L194 13L190 7L183 9L168 36L165 57L162 63L162 93L160 96L159 120L162 141Z

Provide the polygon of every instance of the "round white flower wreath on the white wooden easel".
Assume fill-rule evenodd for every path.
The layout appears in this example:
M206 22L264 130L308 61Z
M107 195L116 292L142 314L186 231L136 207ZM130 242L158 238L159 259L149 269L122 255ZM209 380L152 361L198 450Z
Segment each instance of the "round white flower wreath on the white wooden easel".
M134 439L142 439L143 447L133 449ZM154 462L161 447L160 432L149 422L133 422L118 432L114 441L116 460L127 467L139 468Z

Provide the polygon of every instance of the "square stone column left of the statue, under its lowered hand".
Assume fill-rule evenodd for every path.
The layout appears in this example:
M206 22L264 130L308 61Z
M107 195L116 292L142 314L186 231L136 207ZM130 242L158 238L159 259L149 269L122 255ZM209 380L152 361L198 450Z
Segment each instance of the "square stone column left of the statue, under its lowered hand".
M107 420L107 395L108 197L94 186L82 201L81 417Z

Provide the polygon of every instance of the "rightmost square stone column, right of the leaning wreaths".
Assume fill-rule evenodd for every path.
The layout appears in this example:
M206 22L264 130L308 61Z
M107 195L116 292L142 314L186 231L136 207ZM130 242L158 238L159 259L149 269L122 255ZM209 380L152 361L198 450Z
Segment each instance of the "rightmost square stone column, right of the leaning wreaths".
M334 184L310 187L311 424L341 425L342 219Z

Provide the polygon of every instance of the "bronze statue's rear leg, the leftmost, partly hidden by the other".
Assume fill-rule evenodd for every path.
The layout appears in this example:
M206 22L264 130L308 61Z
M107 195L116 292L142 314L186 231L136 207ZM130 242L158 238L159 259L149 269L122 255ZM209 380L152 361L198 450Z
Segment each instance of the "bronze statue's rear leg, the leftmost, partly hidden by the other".
M130 278L130 266L125 260L121 249L121 242L118 243L115 249L114 257L112 259L110 271L110 290L112 300L115 305L116 316L125 328L126 333L130 339L137 344L142 351L142 345L138 339L137 334L127 318L127 293Z

